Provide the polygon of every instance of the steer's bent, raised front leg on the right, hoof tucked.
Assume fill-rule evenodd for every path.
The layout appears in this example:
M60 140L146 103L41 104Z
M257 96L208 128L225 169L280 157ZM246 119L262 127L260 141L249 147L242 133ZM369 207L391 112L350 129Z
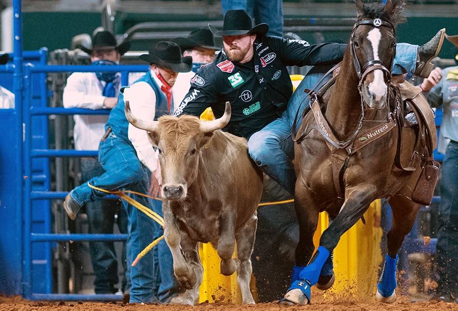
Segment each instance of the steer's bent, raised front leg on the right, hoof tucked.
M237 262L232 258L235 247L235 211L234 208L228 207L220 216L220 239L217 251L221 258L220 270L223 275L231 275L237 270Z

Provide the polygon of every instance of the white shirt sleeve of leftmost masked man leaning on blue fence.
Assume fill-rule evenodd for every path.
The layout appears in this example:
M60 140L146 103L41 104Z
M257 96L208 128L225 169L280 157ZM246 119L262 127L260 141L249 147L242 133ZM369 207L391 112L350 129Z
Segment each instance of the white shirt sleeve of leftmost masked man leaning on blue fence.
M75 72L67 78L63 103L65 108L102 109L105 97L91 76Z

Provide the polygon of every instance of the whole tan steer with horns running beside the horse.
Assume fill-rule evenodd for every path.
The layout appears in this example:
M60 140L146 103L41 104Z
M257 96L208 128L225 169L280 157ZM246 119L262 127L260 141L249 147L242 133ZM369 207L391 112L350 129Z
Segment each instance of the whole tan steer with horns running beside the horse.
M247 141L220 131L231 118L229 102L224 115L213 121L186 115L140 120L131 114L128 101L125 113L133 126L148 131L159 152L164 236L175 276L186 288L180 301L198 302L203 274L198 242L210 242L221 258L221 273L237 271L243 302L254 303L250 257L262 173L248 156ZM238 259L232 258L235 243Z

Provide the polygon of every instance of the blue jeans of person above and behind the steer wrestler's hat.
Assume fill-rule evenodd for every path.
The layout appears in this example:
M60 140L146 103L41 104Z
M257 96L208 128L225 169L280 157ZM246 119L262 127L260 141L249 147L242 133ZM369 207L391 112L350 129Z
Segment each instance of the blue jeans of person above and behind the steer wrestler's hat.
M269 36L283 37L283 7L281 0L221 0L223 15L228 10L245 10L255 24L269 25Z

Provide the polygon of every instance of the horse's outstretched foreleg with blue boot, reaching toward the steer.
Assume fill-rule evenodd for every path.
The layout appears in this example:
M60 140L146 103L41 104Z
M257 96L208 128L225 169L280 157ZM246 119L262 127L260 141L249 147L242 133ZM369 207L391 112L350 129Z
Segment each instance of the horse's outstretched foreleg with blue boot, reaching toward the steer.
M293 282L286 293L287 300L299 304L310 302L310 287L318 281L322 267L337 246L342 234L350 229L369 207L374 199L375 187L360 185L355 189L346 189L346 193L348 195L339 214L321 235L320 246L315 255L310 263L301 270L299 279Z

